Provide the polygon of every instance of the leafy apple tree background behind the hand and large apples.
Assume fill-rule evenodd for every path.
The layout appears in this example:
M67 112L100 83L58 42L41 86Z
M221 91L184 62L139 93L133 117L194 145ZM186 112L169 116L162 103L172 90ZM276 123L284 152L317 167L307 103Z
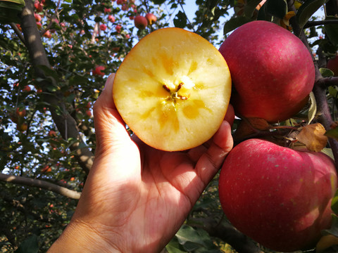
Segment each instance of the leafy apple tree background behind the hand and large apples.
M336 0L1 0L0 251L46 252L67 226L94 156L92 105L132 46L161 27L191 30L216 47L251 20L294 32L313 54L316 84L311 106L275 125L277 134L320 122L330 136L323 148L337 157L338 81L325 68L338 49L337 6ZM139 30L134 18L146 13L157 21ZM265 124L251 122L254 131L237 131L235 143L271 135ZM227 223L217 185L216 176L165 251L269 252ZM336 223L324 234L338 236ZM321 249L333 250L337 240L331 241Z

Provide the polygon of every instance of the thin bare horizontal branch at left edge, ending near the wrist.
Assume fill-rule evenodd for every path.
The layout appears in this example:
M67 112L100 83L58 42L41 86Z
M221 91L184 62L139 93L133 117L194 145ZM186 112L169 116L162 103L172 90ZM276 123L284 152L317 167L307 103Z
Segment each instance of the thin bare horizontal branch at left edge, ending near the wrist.
M18 183L23 186L32 186L32 187L38 187L45 190L51 190L54 193L61 194L65 197L70 197L74 200L80 199L81 193L75 191L75 190L69 190L68 188L57 186L54 183L49 183L46 181L42 181L39 179L29 179L23 176L13 176L8 174L0 174L0 181L8 182L8 183Z

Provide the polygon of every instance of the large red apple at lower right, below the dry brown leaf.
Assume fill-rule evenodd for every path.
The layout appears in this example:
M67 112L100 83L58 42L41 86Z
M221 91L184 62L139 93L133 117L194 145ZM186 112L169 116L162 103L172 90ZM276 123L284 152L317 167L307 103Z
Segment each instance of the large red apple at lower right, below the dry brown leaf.
M327 155L249 139L227 156L218 191L235 228L265 247L293 252L314 247L330 228L336 188Z

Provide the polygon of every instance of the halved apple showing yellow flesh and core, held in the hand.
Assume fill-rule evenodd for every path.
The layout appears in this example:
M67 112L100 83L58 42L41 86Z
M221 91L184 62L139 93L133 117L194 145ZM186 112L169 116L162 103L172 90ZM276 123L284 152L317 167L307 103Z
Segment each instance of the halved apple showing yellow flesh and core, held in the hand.
M229 68L206 39L163 28L141 39L115 75L113 100L125 123L159 150L194 148L208 141L225 117Z

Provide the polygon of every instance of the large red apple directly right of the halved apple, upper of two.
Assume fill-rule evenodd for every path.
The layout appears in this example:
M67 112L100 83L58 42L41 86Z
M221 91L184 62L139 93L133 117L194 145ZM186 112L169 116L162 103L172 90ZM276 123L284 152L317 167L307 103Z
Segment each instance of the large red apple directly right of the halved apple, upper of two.
M252 21L234 30L219 51L230 68L237 115L279 122L308 101L315 67L306 46L288 30Z

